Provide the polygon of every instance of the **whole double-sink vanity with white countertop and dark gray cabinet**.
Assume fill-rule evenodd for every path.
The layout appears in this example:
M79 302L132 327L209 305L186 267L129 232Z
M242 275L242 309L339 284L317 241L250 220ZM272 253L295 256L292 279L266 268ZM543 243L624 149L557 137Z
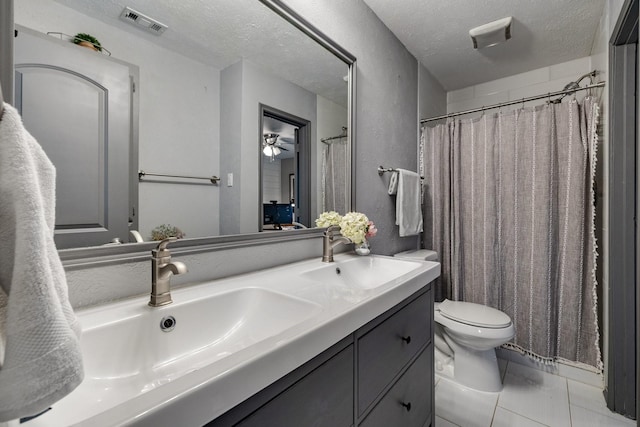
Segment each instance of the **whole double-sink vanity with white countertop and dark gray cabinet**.
M25 425L428 426L439 274L339 254L78 310L85 380Z

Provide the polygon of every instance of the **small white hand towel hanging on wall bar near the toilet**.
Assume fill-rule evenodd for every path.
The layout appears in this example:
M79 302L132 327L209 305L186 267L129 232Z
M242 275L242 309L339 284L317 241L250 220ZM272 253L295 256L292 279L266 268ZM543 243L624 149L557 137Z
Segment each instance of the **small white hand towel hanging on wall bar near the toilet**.
M396 225L400 228L400 237L415 236L422 232L420 185L420 175L398 169Z

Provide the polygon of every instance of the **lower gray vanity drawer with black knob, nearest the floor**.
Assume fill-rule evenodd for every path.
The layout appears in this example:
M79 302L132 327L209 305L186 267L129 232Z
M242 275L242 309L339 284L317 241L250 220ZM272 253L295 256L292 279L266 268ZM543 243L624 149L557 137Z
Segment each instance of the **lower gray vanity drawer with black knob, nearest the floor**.
M433 346L429 346L380 400L362 427L423 427L431 418Z

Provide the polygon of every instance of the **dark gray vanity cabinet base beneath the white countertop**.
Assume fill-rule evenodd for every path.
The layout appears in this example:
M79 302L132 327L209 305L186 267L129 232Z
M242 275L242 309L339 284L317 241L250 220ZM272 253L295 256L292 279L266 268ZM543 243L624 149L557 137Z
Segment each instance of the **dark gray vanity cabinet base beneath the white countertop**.
M427 427L433 293L405 299L208 427Z

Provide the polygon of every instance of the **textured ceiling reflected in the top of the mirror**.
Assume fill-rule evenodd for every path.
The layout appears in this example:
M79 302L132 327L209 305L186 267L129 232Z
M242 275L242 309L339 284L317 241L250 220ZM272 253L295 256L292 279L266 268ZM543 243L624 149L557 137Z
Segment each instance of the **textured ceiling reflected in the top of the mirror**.
M217 69L244 58L311 92L347 105L347 84L343 80L346 64L257 0L56 1ZM169 28L157 36L125 23L119 19L125 6ZM100 34L94 35L102 40ZM105 47L109 49L108 45Z

